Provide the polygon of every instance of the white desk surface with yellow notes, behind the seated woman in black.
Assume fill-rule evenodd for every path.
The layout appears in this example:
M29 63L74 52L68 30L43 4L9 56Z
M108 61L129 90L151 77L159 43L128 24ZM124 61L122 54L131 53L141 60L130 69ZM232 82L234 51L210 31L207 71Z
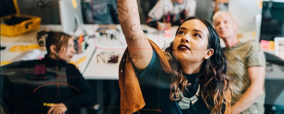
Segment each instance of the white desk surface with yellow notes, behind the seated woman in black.
M96 31L96 29L98 28L98 25L85 25L85 28L87 29L87 32L92 33L93 31ZM38 44L38 42L35 39L36 32L44 30L44 29L53 30L53 31L60 31L61 26L60 25L42 25L41 28L37 31L32 31L32 32L29 32L29 33L26 33L24 35L20 35L20 36L17 36L17 37L1 36L1 45L6 46L5 50L1 50L1 62L2 61L11 61L11 60L13 60L13 58L15 58L15 57L19 56L21 53L23 53L23 51L21 51L21 52L9 52L9 49L11 47L13 47L14 45ZM80 33L81 33L81 31L80 31L80 29L78 29L75 32L75 35L79 36ZM99 40L96 40L96 42L99 42ZM80 58L86 56L86 59L84 61L77 64L77 66L78 66L78 68L79 68L79 70L82 74L84 73L84 71L87 67L87 64L90 61L90 58L95 51L94 38L89 39L88 44L89 44L89 47L83 53L75 54L71 59L71 61L76 62L76 61L80 60ZM45 47L41 47L41 52L40 52L39 57L44 57L44 55L46 53L47 52L46 52Z

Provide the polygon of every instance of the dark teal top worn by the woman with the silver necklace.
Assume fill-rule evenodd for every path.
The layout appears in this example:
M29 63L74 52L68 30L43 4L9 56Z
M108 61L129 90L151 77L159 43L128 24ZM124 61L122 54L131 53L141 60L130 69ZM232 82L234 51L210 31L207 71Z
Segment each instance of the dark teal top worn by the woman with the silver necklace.
M140 74L140 75L139 75ZM198 88L198 74L184 74L188 81L192 84L185 93L186 98L195 95ZM163 71L159 58L153 50L153 57L150 64L142 73L137 73L138 81L141 87L145 107L141 110L142 114L210 114L210 110L201 98L198 96L195 104L190 104L189 109L182 110L178 106L179 101L170 100L170 75ZM202 86L200 86L201 92ZM161 112L158 112L161 111Z

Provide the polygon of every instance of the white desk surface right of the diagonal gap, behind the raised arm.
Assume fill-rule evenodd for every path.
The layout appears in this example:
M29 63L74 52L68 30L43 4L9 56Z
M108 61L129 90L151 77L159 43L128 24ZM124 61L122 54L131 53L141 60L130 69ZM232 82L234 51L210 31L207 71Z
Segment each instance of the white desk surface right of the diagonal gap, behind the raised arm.
M171 37L163 37L164 34L161 31L159 34L147 33L147 35L148 38L159 45L160 48L163 48L164 45L169 45L169 43L174 40L176 30L177 27L173 27L171 31L167 31L168 34L172 33ZM83 74L85 79L118 80L118 66L121 58L119 58L118 63L108 63L108 55L123 55L127 45L122 31L120 31L119 35L120 41L123 43L122 45L117 40L103 38L100 41L86 72ZM101 54L101 56L97 56L99 54ZM101 57L105 59L105 62Z

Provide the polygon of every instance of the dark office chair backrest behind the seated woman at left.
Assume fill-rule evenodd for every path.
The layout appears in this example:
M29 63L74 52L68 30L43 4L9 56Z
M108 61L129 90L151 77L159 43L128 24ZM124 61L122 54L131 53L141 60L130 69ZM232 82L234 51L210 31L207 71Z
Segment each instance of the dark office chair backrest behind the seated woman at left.
M37 90L44 91L45 88L57 90L58 83L60 89L68 87L66 68L45 67L40 61L21 61L1 67L0 98L5 113L12 114L14 112L10 100L13 100L13 103L24 104L21 103L23 99L26 99L24 96L40 97L41 93L37 93Z

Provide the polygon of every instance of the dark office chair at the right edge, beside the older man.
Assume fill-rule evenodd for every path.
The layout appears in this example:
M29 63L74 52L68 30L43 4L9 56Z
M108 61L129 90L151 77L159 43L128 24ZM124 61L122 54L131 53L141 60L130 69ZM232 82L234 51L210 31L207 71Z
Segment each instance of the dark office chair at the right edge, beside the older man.
M264 53L266 57L265 114L284 113L284 60ZM282 99L282 100L281 100Z

